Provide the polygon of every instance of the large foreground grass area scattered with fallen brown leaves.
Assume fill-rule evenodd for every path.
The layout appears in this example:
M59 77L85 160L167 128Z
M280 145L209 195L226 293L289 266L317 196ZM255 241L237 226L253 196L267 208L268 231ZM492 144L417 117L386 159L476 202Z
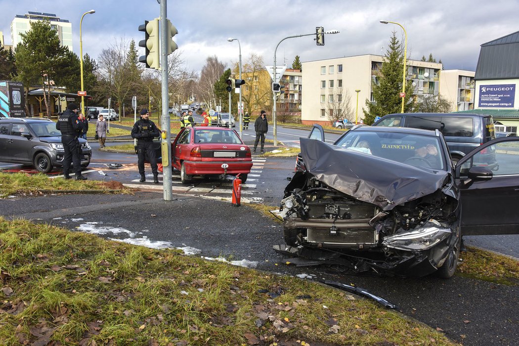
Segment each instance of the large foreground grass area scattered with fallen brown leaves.
M443 334L319 284L0 218L6 344L434 344Z

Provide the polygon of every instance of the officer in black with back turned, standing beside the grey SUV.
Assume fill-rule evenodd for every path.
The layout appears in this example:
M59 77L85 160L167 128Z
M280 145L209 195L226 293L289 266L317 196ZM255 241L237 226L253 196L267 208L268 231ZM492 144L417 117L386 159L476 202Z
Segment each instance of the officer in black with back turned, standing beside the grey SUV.
M83 130L83 124L77 117L76 113L78 110L75 103L69 103L65 112L58 118L56 129L61 131L61 143L65 150L65 157L63 158L63 175L65 179L71 179L69 169L72 162L76 172L76 180L86 180L87 177L81 175L81 146L77 137Z

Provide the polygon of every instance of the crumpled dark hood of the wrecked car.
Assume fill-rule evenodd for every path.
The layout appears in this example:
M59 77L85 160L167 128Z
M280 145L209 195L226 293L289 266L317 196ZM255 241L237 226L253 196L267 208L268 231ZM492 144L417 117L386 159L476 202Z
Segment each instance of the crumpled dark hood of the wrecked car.
M385 211L442 188L449 173L301 139L301 155L310 174L324 184Z

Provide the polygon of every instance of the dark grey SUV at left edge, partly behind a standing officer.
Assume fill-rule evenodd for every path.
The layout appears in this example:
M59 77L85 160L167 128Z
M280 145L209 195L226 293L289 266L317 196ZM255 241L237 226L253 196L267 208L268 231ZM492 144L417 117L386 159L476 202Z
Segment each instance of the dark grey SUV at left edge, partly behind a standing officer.
M92 150L88 142L78 139L81 166L90 164ZM56 123L40 118L0 118L0 161L34 165L43 173L61 167L65 151Z

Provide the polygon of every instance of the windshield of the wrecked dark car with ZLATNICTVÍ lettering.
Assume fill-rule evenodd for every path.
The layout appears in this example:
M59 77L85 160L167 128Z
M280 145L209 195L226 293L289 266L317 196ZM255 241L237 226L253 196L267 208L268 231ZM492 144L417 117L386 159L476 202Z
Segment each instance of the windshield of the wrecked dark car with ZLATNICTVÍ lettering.
M445 170L439 139L433 136L400 132L350 131L335 145L415 167Z

